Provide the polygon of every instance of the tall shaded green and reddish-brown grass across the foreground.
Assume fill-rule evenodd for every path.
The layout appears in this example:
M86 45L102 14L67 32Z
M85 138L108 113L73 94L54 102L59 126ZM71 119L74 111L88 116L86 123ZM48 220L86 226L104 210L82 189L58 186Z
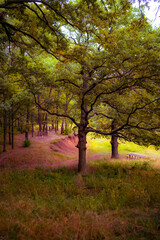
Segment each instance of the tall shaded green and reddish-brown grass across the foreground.
M160 171L146 162L95 161L83 176L5 170L0 184L0 239L160 237Z

